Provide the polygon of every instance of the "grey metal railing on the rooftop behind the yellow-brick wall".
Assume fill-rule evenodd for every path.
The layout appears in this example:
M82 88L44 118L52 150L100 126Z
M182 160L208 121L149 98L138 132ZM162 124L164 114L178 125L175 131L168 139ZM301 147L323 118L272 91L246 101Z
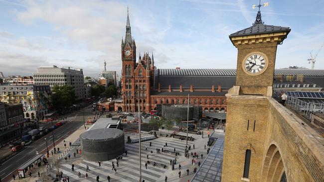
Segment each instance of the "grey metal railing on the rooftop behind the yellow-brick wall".
M281 100L280 92L274 91L273 97ZM324 104L315 102L306 102L297 97L288 96L286 104L299 112L304 112L305 115L311 115L311 112L324 113Z

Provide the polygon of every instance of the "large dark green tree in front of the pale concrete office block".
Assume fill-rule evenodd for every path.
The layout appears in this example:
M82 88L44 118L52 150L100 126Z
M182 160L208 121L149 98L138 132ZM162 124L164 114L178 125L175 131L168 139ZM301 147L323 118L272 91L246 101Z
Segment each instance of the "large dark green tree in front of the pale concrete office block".
M52 103L57 110L69 107L75 103L75 92L72 86L54 86L52 89Z

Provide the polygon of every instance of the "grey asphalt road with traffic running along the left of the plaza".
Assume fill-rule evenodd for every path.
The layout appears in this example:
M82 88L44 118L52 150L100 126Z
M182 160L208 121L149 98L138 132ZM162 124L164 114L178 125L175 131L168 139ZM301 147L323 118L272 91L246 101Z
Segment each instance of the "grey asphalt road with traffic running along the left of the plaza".
M67 120L70 119L71 121L68 121L66 124L54 130L55 144L65 139L68 135L73 133L73 131L76 131L80 126L83 125L82 110L74 111L74 113L68 114L66 116L68 117ZM88 116L93 116L93 112L90 111L90 107L87 107L84 110L85 121L87 121ZM50 126L51 124L48 125ZM48 148L51 148L53 146L53 138L52 132L49 132L47 135L39 138L31 145L24 147L18 154L2 163L0 166L1 179L3 179L4 181L6 177L11 177L11 174L13 172L16 172L16 170L21 165L36 156L36 151L40 153L41 151L46 150L46 141L44 140L45 138L47 138ZM74 141L71 142L73 143Z

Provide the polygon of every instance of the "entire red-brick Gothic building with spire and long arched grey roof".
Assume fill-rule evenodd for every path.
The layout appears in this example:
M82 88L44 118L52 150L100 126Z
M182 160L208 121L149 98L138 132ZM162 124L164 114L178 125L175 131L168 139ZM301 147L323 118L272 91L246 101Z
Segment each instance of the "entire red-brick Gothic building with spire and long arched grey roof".
M157 104L187 104L188 94L189 104L200 105L203 111L226 111L225 93L235 82L235 70L157 69L153 54L150 57L149 53L136 60L129 15L121 54L122 111L134 112L140 107L141 111L149 112L156 110ZM224 82L223 76L232 76L231 82Z

